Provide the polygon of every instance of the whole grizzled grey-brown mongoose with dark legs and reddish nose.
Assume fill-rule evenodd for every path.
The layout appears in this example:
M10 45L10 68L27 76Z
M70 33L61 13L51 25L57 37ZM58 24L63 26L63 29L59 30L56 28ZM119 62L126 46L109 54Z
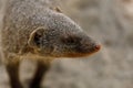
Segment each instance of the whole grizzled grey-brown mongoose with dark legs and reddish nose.
M1 29L1 51L11 88L23 88L19 65L35 59L38 69L30 88L40 88L50 63L59 57L83 57L100 50L93 41L51 0L7 0Z

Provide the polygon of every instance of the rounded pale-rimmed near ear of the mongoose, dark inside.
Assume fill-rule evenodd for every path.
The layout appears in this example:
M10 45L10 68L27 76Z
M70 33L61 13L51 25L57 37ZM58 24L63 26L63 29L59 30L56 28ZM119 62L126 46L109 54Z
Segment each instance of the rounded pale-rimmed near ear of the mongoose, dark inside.
M28 45L30 47L39 47L41 37L43 36L44 28L35 29L29 36Z

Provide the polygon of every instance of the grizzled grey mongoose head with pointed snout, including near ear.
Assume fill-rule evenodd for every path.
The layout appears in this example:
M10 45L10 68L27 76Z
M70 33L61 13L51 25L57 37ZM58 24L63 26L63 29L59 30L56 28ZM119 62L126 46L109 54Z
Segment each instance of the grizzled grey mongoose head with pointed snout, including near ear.
M29 38L29 45L41 56L82 57L95 53L100 45L63 13L53 10L43 15L43 24ZM45 19L47 18L47 19Z

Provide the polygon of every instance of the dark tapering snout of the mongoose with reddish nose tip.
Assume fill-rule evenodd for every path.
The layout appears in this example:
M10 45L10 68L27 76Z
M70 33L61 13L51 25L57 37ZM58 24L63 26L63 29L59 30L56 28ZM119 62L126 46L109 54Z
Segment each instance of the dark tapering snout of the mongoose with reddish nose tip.
M68 35L68 37L63 38L62 42L65 45L65 48L69 50L66 56L64 55L65 57L89 56L101 48L99 43L82 32L80 33L80 36L74 34L71 34L71 36Z

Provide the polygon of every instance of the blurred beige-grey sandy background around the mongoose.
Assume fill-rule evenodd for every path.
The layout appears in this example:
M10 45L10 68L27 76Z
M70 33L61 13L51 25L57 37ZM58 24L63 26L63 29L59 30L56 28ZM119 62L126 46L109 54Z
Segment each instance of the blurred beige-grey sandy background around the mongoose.
M133 0L60 0L60 7L102 48L85 59L54 61L42 88L133 88ZM34 68L34 62L22 63L23 85ZM10 88L2 64L0 88Z

